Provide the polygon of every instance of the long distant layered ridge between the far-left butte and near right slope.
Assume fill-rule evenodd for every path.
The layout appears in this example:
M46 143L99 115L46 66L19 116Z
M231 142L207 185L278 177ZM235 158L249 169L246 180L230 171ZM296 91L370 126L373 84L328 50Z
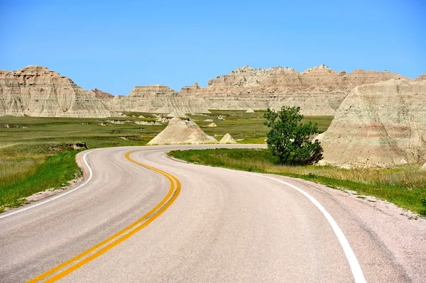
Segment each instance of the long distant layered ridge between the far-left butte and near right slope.
M209 109L280 109L300 106L304 115L334 115L349 91L362 84L402 77L391 72L355 70L335 72L320 65L297 72L288 67L253 69L241 67L210 79L207 87L197 83L179 92L160 85L135 87L129 97L115 96L114 111L209 113Z

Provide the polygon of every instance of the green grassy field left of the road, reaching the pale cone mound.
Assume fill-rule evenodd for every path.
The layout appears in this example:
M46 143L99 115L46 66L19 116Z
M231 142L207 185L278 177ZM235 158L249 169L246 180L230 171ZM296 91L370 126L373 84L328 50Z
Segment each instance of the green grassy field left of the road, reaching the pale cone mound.
M1 206L15 206L21 197L58 187L73 179L79 169L74 159L76 152L67 143L83 142L88 148L145 145L165 128L165 125L135 123L101 125L110 120L144 121L151 118L0 117L0 210ZM46 170L43 166L50 165L49 160L54 156L62 156L62 164L75 171L72 174L63 172L67 180L55 174L52 176L57 182L50 182L50 175L40 171ZM20 189L21 184L27 187Z

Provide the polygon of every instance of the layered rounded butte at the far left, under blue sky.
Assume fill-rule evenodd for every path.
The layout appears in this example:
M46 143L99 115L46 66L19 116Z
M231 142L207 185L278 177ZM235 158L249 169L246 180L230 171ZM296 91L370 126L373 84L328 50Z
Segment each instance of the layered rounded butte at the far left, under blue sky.
M71 79L46 67L0 70L0 116L109 117L114 113Z

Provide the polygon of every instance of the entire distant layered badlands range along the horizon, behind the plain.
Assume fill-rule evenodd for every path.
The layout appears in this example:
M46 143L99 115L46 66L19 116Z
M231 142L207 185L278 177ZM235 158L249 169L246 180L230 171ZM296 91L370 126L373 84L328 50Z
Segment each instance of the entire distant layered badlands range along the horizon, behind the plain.
M129 96L112 96L99 89L86 91L45 67L29 66L14 72L0 71L0 115L106 117L123 112L278 110L283 105L300 106L304 115L334 115L354 87L400 77L363 70L346 74L325 65L304 72L288 67L256 70L245 66L210 79L207 87L195 83L177 92L151 85L135 87Z

